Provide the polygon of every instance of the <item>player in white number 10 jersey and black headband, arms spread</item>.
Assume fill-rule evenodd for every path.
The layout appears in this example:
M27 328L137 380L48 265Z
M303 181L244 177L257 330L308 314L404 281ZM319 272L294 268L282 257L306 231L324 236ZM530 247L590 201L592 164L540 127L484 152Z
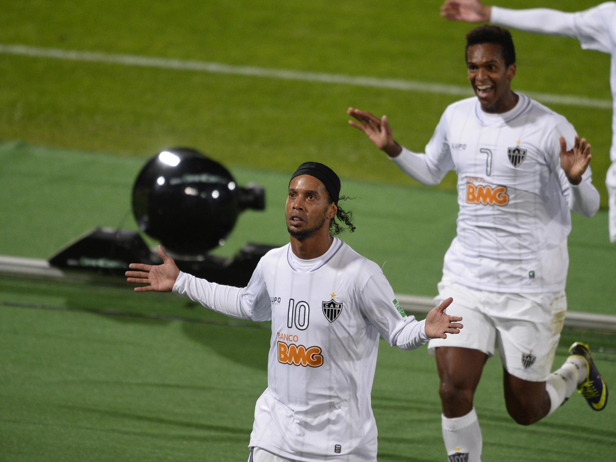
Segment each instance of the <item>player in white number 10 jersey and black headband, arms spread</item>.
M137 292L174 291L234 318L272 321L267 389L257 400L249 462L376 461L370 405L379 335L411 350L459 333L461 317L443 301L418 322L405 315L377 264L331 235L349 217L340 180L307 162L286 200L291 242L262 257L245 288L180 272L159 246L160 266L131 264Z

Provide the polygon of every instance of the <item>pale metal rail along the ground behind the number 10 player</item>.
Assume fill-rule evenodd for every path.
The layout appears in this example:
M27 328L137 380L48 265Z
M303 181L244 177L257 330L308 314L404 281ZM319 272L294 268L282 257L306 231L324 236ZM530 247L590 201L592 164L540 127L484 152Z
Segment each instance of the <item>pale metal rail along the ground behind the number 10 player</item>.
M0 274L60 280L75 277L73 274L68 275L67 272L52 267L47 260L6 255L0 256ZM396 294L396 298L400 302L400 306L408 312L428 313L429 310L434 308L434 302L432 302L431 297ZM616 316L567 311L565 327L616 333Z

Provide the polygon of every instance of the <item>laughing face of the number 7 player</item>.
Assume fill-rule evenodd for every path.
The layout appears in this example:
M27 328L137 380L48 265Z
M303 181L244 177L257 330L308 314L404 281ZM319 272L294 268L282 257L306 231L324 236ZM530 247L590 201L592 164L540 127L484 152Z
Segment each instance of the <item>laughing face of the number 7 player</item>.
M516 65L505 65L503 47L495 43L471 45L466 52L468 79L483 109L487 112L505 112L512 109L511 79Z

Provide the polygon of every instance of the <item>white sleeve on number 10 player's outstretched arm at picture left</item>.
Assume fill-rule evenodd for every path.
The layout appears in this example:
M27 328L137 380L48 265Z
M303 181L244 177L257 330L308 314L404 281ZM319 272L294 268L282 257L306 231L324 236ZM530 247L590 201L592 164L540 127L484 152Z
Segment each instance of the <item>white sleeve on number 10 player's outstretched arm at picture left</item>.
M180 271L173 291L232 318L253 321L272 318L272 304L261 277L261 262L244 288L220 285Z

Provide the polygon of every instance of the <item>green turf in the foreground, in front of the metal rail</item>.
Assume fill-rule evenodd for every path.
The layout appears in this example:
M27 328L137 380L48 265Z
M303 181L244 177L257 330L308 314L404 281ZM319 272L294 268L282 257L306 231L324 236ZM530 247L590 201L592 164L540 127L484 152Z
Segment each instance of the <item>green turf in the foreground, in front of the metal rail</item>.
M2 277L0 460L243 461L269 338L267 323L171 294ZM555 362L580 338L604 351L595 357L614 383L612 335L565 330ZM611 460L609 406L596 413L576 394L540 423L518 426L505 411L500 367L488 361L477 390L484 460ZM372 392L379 460L445 459L437 389L426 349L381 341Z

